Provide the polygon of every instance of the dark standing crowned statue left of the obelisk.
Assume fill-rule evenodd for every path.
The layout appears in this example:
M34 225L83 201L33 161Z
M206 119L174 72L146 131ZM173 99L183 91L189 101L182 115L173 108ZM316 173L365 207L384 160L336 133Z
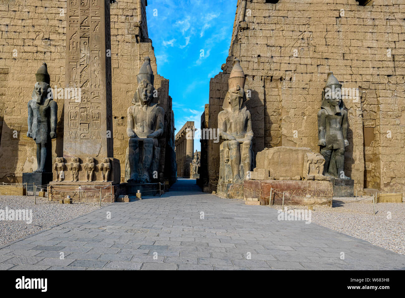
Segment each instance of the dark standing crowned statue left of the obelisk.
M36 84L32 91L32 99L28 102L27 137L36 143L36 161L34 173L51 172L52 143L56 137L58 122L58 105L53 101L50 77L47 64L44 62L35 74Z

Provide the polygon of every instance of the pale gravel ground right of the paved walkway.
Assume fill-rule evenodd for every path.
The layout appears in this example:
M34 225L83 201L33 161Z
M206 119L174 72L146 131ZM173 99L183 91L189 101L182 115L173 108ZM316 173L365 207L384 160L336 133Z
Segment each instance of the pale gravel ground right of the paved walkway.
M362 199L362 198L358 198ZM281 206L270 206L281 209ZM311 221L374 245L405 254L405 203L375 204L372 199L347 202L347 198L333 198L333 207L314 206ZM288 209L307 209L306 206L288 206ZM391 212L391 219L388 219Z

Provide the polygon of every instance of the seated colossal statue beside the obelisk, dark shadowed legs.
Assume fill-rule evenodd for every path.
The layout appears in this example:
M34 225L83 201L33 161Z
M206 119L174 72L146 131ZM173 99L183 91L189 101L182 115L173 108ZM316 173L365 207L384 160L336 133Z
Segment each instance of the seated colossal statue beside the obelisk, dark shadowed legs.
M160 146L158 138L163 135L164 109L158 107L153 98L157 90L153 87L154 75L150 58L145 57L137 75L138 88L127 111L127 135L129 137L126 177L130 183L149 183L158 178ZM129 173L128 173L129 172ZM129 174L129 175L128 175ZM129 177L128 177L129 176Z

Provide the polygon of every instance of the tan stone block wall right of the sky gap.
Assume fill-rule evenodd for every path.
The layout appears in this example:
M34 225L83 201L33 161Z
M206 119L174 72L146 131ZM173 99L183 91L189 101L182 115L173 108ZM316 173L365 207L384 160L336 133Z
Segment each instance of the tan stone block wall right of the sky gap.
M210 81L209 127L235 57L247 76L254 154L274 146L319 151L317 112L328 71L359 98L343 97L350 145L345 174L355 188L405 188L405 0L238 0L229 56ZM253 101L252 101L253 100ZM219 143L207 146L215 183ZM203 155L203 154L202 154ZM210 189L211 191L211 189Z

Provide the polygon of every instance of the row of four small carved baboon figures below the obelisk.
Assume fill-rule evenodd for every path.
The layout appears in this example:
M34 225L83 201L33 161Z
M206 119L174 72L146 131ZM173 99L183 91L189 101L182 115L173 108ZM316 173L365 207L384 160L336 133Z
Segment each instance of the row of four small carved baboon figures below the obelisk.
M53 164L53 169L56 172L56 181L62 181L64 177L64 170L67 168L68 171L72 173L72 182L79 180L79 171L82 167L86 173L86 181L91 182L93 181L93 172L96 168L94 163L93 157L87 158L87 163L80 164L80 159L78 157L73 157L70 163L64 163L63 157L57 157L56 162ZM102 163L98 166L100 172L102 174L102 181L107 182L110 170L111 170L111 163L109 158L103 158Z

